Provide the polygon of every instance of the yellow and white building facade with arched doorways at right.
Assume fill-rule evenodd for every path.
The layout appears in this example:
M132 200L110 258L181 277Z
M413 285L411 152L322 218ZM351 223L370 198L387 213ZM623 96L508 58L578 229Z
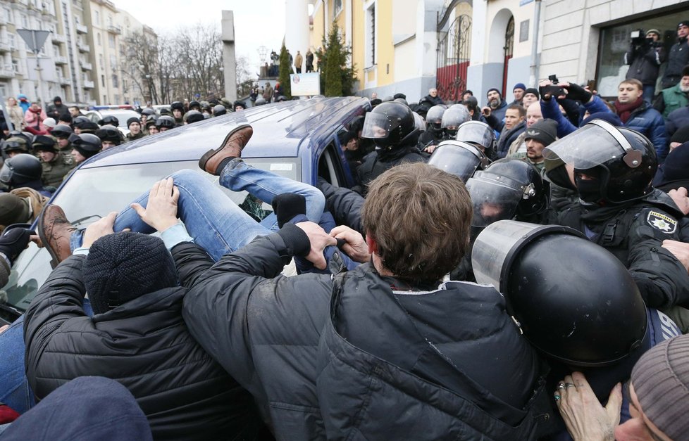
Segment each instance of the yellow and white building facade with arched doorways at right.
M495 87L511 101L514 84L538 87L550 75L615 96L631 31L657 29L669 48L689 20L689 1L678 0L287 0L287 10L309 17L308 37L288 18L292 53L304 53L290 46L304 40L315 51L337 23L352 47L355 93L402 92L409 102L430 87L447 101L468 89L480 103Z

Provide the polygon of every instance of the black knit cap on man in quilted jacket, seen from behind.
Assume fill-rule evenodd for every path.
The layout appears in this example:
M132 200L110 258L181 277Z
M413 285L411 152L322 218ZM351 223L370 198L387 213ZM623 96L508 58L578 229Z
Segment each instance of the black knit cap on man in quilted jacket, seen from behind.
M175 262L161 238L130 231L95 241L82 273L94 314L178 285Z

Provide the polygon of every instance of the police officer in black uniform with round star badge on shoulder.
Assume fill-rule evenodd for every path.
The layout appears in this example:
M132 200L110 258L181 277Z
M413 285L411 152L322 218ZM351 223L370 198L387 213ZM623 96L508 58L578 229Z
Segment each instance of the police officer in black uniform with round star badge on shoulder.
M550 180L576 189L579 197L577 205L559 212L557 223L612 252L629 269L649 307L689 305L689 275L662 248L665 239L680 239L683 215L651 185L658 168L653 144L631 129L593 120L550 144L543 155L546 162L561 162L546 166Z

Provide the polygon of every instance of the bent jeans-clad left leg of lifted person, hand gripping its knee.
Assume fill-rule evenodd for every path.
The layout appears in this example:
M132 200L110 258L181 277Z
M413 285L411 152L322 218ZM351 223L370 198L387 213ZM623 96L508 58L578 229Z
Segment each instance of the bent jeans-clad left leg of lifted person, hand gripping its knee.
M201 245L213 260L220 260L223 255L242 248L256 236L270 233L203 175L181 170L170 177L180 190L178 217L194 242ZM144 193L134 202L146 207L148 196L148 192ZM115 219L115 231L127 228L144 234L154 231L131 207L120 212Z

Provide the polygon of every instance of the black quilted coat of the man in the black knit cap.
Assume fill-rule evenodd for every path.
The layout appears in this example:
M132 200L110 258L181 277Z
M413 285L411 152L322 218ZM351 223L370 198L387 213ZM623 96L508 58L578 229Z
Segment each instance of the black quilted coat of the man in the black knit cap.
M80 376L132 392L156 440L232 440L260 426L252 397L192 338L184 288L166 288L88 317L83 256L52 272L24 321L27 378L39 399Z

